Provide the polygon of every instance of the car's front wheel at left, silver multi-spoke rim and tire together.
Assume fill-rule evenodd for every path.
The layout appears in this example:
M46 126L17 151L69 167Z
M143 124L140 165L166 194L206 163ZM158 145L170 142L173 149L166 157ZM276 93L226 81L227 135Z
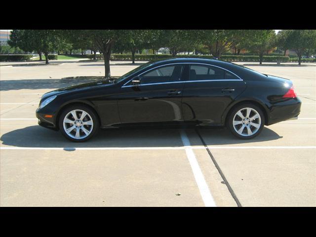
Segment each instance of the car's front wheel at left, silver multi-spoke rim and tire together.
M84 117L80 118L82 114ZM71 129L72 127L73 129ZM67 107L61 113L59 130L64 137L72 142L85 142L91 139L99 130L99 120L95 112L89 107L73 105Z

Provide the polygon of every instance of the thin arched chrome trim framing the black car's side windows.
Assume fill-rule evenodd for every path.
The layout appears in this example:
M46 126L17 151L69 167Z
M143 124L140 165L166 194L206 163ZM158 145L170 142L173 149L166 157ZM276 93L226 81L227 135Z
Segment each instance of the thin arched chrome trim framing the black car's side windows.
M222 67L219 67L219 66L216 66L216 65L212 65L212 64L206 64L206 63L170 63L170 64L164 64L164 65L159 65L155 68L151 68L145 72L142 72L141 74L138 75L138 77L142 76L143 74L151 71L151 70L155 70L157 68L160 68L160 67L163 67L163 66L169 66L169 65L176 65L176 64L199 64L199 65L206 65L206 66L212 66L212 67L217 67L217 68L220 68L220 69L223 69L224 71L227 71L233 75L235 75L237 78L239 79L214 79L214 80L186 80L186 81L169 81L169 82L157 82L157 83L148 83L148 84L139 84L139 85L126 85L127 83L129 83L132 79L128 80L126 83L124 83L122 87L132 87L132 86L144 86L144 85L157 85L157 84L170 84L170 83L187 83L187 82L208 82L208 81L243 81L243 79L241 79L238 75L236 75L235 73L225 69L225 68L222 68Z

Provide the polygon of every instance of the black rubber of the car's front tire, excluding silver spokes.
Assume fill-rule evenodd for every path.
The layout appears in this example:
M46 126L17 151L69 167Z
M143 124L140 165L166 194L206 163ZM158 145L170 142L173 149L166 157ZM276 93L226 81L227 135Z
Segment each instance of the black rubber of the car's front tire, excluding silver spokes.
M85 117L84 119L90 121L92 120L92 128L91 125L82 125L82 127L86 128L87 130L90 131L89 135L86 136L86 134L83 132L82 129L79 129L79 133L82 135L83 138L73 138L71 137L71 135L73 135L73 133L75 133L75 130L77 128L74 128L75 130L73 130L70 135L65 131L64 128L64 118L66 115L68 115L71 111L74 110L79 110L79 111L84 111L88 114L87 117ZM77 112L77 115L79 116L80 113ZM69 118L69 117L68 117ZM91 119L90 119L91 118ZM72 120L72 119L71 119ZM59 117L59 130L61 131L61 133L63 134L64 137L66 137L68 140L72 141L72 142L85 142L89 139L91 139L99 130L99 119L97 117L97 115L95 114L95 112L93 110L91 110L88 106L84 106L84 105L72 105L67 107L66 109L63 110L63 112L61 113L60 117ZM74 124L76 125L76 124ZM66 125L68 126L68 125ZM69 127L71 127L72 125L69 124ZM89 129L90 128L90 129ZM73 135L74 136L74 135ZM85 136L85 137L84 137Z

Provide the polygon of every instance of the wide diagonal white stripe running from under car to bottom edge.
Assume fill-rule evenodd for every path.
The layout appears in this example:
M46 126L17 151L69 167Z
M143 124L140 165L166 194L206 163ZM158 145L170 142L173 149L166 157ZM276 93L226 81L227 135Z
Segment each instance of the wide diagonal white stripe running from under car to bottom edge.
M199 189L199 193L202 196L204 205L212 206L212 207L216 206L214 198L208 189L208 186L206 184L202 171L198 165L197 158L194 155L189 138L184 130L181 130L181 139L182 139L183 146L185 147L187 158L189 159L194 177L197 182L197 187Z

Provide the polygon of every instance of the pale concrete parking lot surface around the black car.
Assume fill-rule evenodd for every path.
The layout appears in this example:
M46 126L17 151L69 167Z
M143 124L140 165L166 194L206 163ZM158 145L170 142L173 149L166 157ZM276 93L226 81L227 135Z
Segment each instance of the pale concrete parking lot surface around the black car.
M144 62L112 61L112 76ZM2 63L0 206L316 206L316 64L243 63L291 79L299 119L252 140L226 128L107 129L85 143L40 127L40 97L102 62Z

